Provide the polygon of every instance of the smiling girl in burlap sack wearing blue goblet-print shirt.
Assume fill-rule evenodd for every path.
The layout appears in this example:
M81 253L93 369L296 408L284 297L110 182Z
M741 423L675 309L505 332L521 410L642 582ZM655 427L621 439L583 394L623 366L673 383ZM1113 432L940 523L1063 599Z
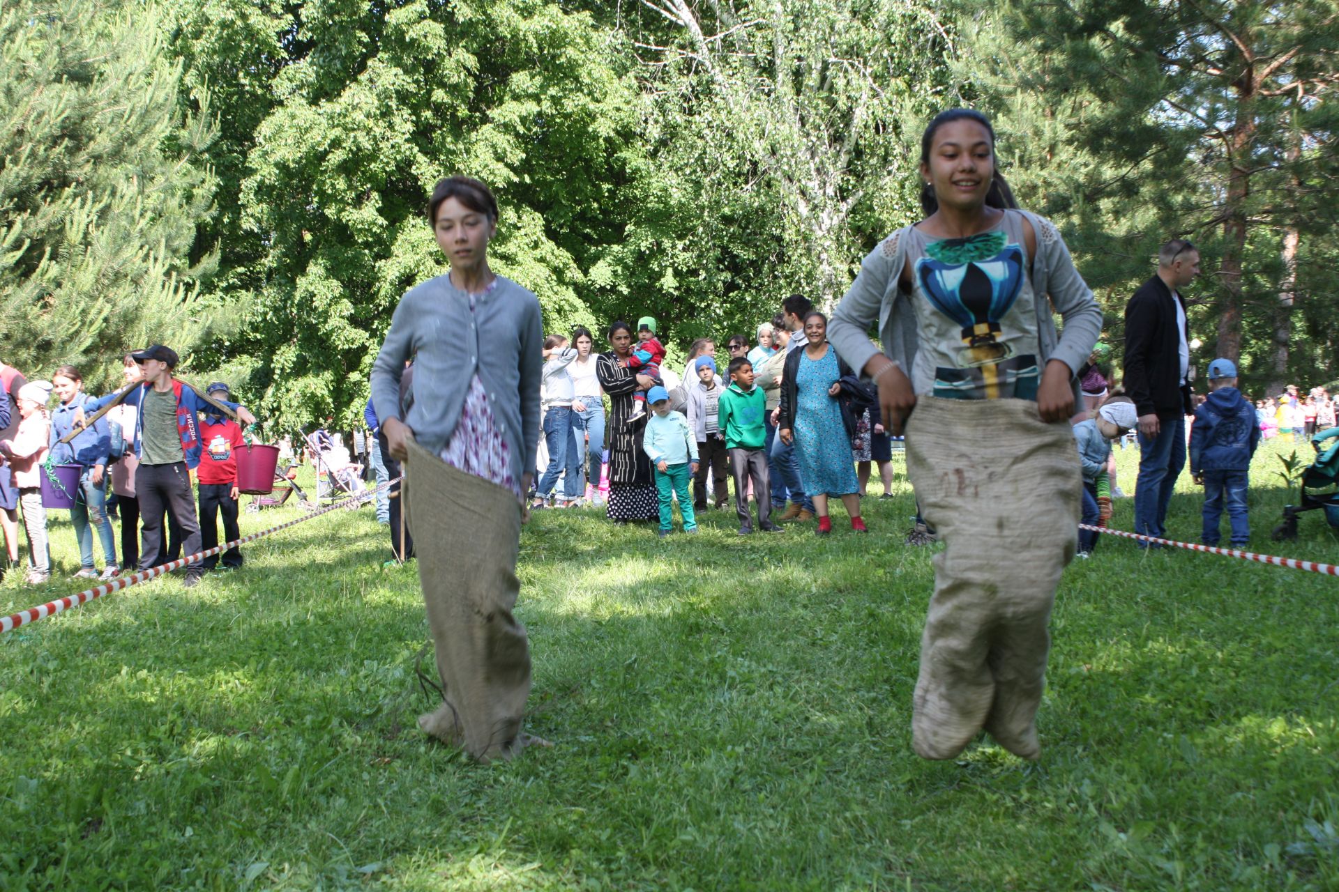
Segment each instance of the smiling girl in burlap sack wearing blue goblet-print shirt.
M935 118L920 174L925 219L865 258L829 338L905 428L908 477L944 542L912 746L952 758L984 729L1036 758L1047 625L1079 520L1067 419L1102 313L1055 227L1018 210L984 115Z

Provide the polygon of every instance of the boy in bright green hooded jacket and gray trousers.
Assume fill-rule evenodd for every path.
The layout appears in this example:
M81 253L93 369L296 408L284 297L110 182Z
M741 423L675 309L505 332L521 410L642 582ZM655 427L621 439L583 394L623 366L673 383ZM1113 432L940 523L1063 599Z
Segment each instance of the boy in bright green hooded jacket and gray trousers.
M739 514L739 535L753 532L749 515L749 480L753 479L754 497L758 500L758 527L765 532L781 532L771 522L771 477L767 475L767 397L754 386L753 362L736 356L730 360L730 386L720 395L718 427L730 451L730 471L735 476L735 511Z

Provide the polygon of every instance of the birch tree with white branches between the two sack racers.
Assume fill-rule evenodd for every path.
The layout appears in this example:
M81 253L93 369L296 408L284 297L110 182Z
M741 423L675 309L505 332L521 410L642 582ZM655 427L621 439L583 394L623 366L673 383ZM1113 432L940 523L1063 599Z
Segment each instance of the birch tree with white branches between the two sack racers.
M716 300L769 294L754 322L791 292L832 304L861 255L916 213L915 147L947 80L948 39L935 7L643 0L643 20L624 28L645 53L651 152L702 219L683 242L696 250L679 269L718 280ZM736 255L722 265L730 249ZM680 275L663 285L680 289Z

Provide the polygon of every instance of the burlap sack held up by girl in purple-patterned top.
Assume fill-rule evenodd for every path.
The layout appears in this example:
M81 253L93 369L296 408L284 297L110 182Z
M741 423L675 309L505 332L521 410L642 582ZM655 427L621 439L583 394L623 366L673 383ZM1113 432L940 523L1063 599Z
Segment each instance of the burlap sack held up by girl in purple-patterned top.
M402 489L437 649L443 703L419 728L477 760L525 746L530 695L525 626L511 615L521 506L513 492L410 443Z

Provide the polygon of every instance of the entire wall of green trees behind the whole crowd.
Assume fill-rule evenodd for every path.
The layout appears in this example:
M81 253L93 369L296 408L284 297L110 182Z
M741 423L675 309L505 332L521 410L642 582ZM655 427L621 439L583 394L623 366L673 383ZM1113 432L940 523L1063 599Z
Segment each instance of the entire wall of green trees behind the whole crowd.
M915 221L919 135L991 110L1107 341L1189 235L1196 357L1318 381L1339 349L1339 17L1292 4L952 0L12 0L0 47L0 350L28 373L167 340L270 427L352 424L422 209L473 174L550 330L668 345L842 294ZM1240 348L1236 346L1240 338Z

